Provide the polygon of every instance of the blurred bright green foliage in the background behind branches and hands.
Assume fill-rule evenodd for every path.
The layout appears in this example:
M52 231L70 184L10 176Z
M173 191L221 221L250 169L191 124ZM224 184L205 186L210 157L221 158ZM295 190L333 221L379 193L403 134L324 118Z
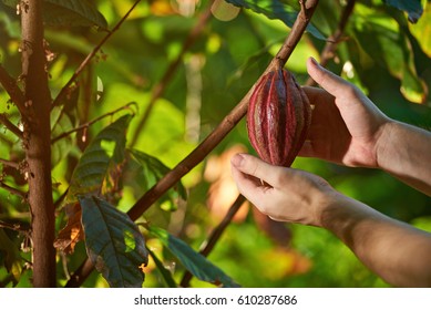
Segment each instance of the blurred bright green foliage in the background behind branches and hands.
M132 0L98 0L100 12L112 29L132 7ZM184 2L183 6L179 3ZM298 8L296 1L283 1ZM397 1L396 1L397 2ZM186 6L187 4L187 6ZM325 37L338 27L346 1L320 1L312 19ZM357 84L390 117L431 128L431 6L422 1L423 16L419 22L408 22L407 13L388 7L382 1L357 1L348 20L343 40L339 42L328 69ZM209 18L187 46L177 66L187 38L198 23L208 1L141 1L122 27L103 45L102 51L80 75L75 90L64 104L61 130L72 130L100 115L136 102L135 114L127 130L127 143L134 148L158 158L168 167L175 166L223 117L240 101L260 75L286 38L289 28L279 20L270 20L249 10L240 10L229 21ZM49 64L53 97L60 92L75 69L106 34L94 27L49 25L45 39L55 56ZM325 41L306 33L287 63L300 83L307 80L305 61L319 59ZM0 63L18 78L20 74L20 29L13 9L0 2ZM171 70L170 79L163 80ZM162 81L162 82L161 82ZM162 84L161 84L162 83ZM164 91L151 107L150 117L141 127L152 94L163 85ZM8 103L0 89L0 113L19 123L19 114ZM124 110L126 111L126 110ZM126 111L127 112L127 111ZM121 112L120 114L124 114ZM59 114L60 115L60 114ZM59 199L70 185L76 165L88 143L119 115L94 123L88 131L73 133L60 141L53 152L54 198ZM53 121L54 122L54 121ZM63 144L60 144L63 143ZM235 145L249 146L244 122L212 152L220 158ZM21 145L8 132L0 132L0 158L22 158ZM208 157L209 158L209 157ZM208 159L207 158L207 159ZM219 214L208 207L208 193L214 179L205 173L212 168L204 161L183 179L188 192L186 202L176 208L156 204L140 220L164 227L185 240L194 249L207 238L219 221ZM380 211L431 231L431 198L403 185L393 177L371 169L346 168L312 158L297 158L295 167L316 173L338 190L359 199ZM2 167L4 184L25 189L23 176ZM213 167L214 169L214 167ZM229 166L215 167L228 173ZM126 211L147 188L136 186L134 174L124 174L122 196L117 206ZM223 193L219 193L222 199ZM227 206L228 207L228 206ZM174 211L172 210L174 209ZM21 198L0 189L0 220L29 226L29 210ZM59 209L57 228L65 224ZM290 245L280 246L257 225L253 213L228 226L208 259L244 287L387 287L367 270L358 259L329 232L314 227L287 225L291 231ZM1 244L19 247L28 241L23 234L0 228ZM147 239L148 248L163 261L179 282L184 267L156 239ZM400 245L402 246L402 245ZM10 255L17 252L0 247L0 286L28 287L31 272L24 268L28 252L21 252L23 268L17 277L8 266ZM58 259L59 285L66 282L86 257L82 242L71 256ZM21 261L22 259L22 261ZM17 262L18 260L13 260ZM144 287L165 286L162 273L150 264ZM104 287L106 282L93 272L84 287ZM206 282L192 280L192 286Z

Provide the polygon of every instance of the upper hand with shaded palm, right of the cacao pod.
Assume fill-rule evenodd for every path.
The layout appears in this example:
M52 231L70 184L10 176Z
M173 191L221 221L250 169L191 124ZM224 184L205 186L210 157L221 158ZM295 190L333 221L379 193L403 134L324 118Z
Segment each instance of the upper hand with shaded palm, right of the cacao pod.
M324 89L302 87L314 105L299 156L347 166L377 167L377 145L390 122L359 89L308 59L309 75Z

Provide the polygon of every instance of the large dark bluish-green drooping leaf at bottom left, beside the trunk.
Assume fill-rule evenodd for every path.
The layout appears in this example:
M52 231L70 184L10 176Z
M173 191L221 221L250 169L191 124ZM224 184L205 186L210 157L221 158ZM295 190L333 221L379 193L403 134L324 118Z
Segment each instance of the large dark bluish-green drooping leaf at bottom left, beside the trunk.
M145 240L130 217L95 196L81 197L89 258L111 287L140 288L148 262Z

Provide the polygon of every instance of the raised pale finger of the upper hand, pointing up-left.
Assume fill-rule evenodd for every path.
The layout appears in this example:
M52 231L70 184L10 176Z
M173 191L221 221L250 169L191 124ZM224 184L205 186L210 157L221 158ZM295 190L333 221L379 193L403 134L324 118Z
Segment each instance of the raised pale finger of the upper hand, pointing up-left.
M343 85L349 85L347 81L319 65L312 58L307 60L307 71L316 83L336 97L343 94Z

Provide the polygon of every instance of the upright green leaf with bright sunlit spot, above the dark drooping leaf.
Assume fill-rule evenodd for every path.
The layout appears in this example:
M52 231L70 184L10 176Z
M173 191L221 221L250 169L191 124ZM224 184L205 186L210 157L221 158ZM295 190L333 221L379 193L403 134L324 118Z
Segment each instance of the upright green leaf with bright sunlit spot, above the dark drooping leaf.
M124 159L125 131L131 115L124 115L102 130L91 142L78 163L70 184L66 204L74 203L79 195L98 194L107 176L110 165Z

